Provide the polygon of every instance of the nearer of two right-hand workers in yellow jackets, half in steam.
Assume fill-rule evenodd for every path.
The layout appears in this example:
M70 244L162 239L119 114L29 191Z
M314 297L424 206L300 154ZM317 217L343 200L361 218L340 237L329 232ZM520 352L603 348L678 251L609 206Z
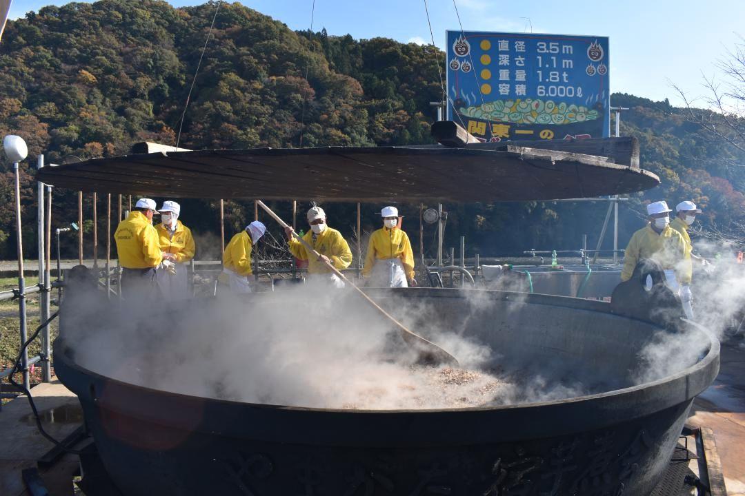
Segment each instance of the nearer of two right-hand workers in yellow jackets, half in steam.
M662 265L665 282L674 292L678 291L679 284L691 283L691 274L685 271L688 250L680 233L670 227L671 211L666 202L647 205L650 222L631 236L624 253L621 281L630 280L636 264L649 259Z

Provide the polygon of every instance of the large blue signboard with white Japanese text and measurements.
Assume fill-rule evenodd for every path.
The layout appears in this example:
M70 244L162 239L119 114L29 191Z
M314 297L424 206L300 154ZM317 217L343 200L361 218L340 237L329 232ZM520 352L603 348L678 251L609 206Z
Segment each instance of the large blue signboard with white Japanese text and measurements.
M609 135L608 38L447 32L448 120L484 141Z

